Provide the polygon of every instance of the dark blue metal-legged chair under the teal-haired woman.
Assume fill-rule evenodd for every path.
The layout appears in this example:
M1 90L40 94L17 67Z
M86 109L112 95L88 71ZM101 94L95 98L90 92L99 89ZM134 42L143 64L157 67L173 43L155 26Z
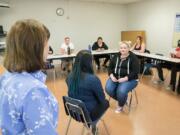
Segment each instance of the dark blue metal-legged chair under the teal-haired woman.
M69 122L66 128L65 135L68 134L68 130L69 130L72 118L77 122L83 123L83 130L81 133L82 135L84 134L84 128L90 131L91 134L97 135L97 132L94 132L94 133L92 132L92 128L94 127L95 122L91 120L91 117L89 115L88 110L86 109L84 102L82 102L81 100L71 98L71 97L67 97L67 96L63 96L63 102L64 102L65 112L69 116ZM109 131L107 129L107 126L104 120L101 119L101 121L104 125L107 135L109 135ZM97 127L95 128L97 129Z

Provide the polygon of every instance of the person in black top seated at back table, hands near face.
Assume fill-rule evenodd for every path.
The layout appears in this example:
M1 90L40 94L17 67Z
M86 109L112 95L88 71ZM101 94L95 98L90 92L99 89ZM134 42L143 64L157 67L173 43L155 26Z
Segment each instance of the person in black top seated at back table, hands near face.
M107 50L107 49L108 49L108 46L103 42L102 37L98 37L97 41L92 46L92 50L99 50L100 51L100 50ZM98 69L100 69L100 62L99 62L100 58L105 58L103 66L107 67L106 63L110 59L110 56L108 54L102 54L102 55L95 55L94 56L94 60L97 64Z

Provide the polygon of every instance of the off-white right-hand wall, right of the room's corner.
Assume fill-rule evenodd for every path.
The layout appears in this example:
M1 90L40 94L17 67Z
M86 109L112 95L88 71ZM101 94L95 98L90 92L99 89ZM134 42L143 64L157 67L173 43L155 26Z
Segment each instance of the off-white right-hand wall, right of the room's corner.
M127 6L129 30L145 30L151 52L169 54L180 0L150 0Z

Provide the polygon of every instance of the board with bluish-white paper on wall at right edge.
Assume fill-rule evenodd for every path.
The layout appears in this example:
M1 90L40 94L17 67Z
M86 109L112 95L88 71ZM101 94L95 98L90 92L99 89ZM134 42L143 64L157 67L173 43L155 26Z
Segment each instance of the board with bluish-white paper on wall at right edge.
M176 14L174 28L173 47L177 47L178 40L180 40L180 13Z

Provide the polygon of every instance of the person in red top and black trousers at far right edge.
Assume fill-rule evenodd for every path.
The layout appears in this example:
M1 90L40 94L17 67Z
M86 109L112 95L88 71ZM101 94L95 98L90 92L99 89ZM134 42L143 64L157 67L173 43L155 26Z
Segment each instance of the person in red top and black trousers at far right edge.
M180 40L178 42L177 48L170 55L173 58L180 58ZM165 62L165 63L157 64L156 67L157 67L158 76L159 76L159 79L160 79L158 81L159 83L164 81L162 68L171 69L171 80L170 80L170 85L169 85L169 87L171 87L171 85L176 82L176 74L177 74L177 71L180 70L180 66L178 65L177 67L172 67L171 63Z

